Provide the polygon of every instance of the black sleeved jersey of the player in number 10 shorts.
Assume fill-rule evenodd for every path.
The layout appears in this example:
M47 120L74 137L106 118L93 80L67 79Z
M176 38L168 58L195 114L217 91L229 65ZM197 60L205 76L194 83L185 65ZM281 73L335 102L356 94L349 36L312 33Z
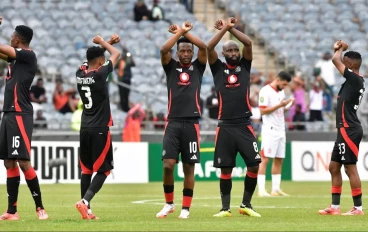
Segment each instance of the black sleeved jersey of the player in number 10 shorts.
M201 116L200 93L206 64L198 59L188 66L171 59L163 65L168 93L168 119L199 118Z

